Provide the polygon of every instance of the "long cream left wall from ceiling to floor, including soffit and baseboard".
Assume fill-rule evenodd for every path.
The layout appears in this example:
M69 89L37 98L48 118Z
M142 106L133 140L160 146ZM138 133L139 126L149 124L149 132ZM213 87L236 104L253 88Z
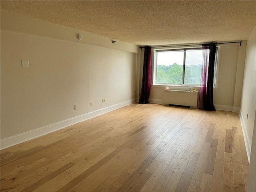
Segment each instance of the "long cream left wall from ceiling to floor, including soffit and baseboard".
M31 35L40 29L30 24L38 22L52 34ZM93 46L86 44L87 33L79 31L84 41L63 40L66 33L76 37L77 30L1 12L1 148L136 100L138 46L116 42L110 48L111 39L89 34ZM21 60L30 67L22 68Z

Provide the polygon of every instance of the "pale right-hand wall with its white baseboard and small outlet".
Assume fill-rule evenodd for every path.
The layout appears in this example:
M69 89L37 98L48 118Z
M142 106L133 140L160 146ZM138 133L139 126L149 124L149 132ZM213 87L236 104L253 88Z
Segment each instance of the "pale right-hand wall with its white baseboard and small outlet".
M241 111L242 128L246 150L250 157L256 109L256 28L247 43L244 83L242 89ZM248 119L247 119L248 114Z

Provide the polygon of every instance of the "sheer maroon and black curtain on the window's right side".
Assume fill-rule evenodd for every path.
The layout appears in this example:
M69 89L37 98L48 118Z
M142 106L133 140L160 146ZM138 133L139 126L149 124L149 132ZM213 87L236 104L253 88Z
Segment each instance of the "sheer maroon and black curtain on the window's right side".
M199 92L199 110L216 111L213 105L213 77L216 43L202 45L202 74Z

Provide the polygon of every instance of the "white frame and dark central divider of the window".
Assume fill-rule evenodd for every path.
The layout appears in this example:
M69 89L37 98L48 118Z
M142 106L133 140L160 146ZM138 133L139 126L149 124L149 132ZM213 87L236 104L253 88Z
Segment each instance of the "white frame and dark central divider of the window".
M184 51L184 59L183 59L183 69L182 69L182 84L157 84L156 83L156 75L157 75L157 52L167 52L167 51ZM152 86L153 87L168 87L168 86L174 86L182 88L187 87L200 87L200 85L195 84L184 84L184 78L185 78L185 64L186 64L186 50L202 50L202 47L198 46L188 46L188 47L182 47L182 48L154 48L152 49ZM218 63L220 58L220 46L217 46L216 48L216 56L215 56L215 63L214 63L214 90L217 89L218 85Z

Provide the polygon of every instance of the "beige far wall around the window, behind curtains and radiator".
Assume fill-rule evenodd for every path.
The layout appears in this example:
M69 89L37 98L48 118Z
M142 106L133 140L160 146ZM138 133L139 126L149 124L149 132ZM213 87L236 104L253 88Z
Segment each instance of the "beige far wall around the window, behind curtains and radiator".
M218 86L213 91L213 102L216 109L232 111L233 108L236 108L236 112L239 112L246 44L247 41L243 40L242 46L239 44L225 44L219 48ZM140 55L142 58L140 62L141 71L143 70L143 54L144 51L142 50ZM142 75L138 81L141 81L141 78ZM153 85L150 91L150 102L163 103L165 87ZM169 88L172 90L189 90L189 87L169 86ZM199 90L199 87L193 88Z

